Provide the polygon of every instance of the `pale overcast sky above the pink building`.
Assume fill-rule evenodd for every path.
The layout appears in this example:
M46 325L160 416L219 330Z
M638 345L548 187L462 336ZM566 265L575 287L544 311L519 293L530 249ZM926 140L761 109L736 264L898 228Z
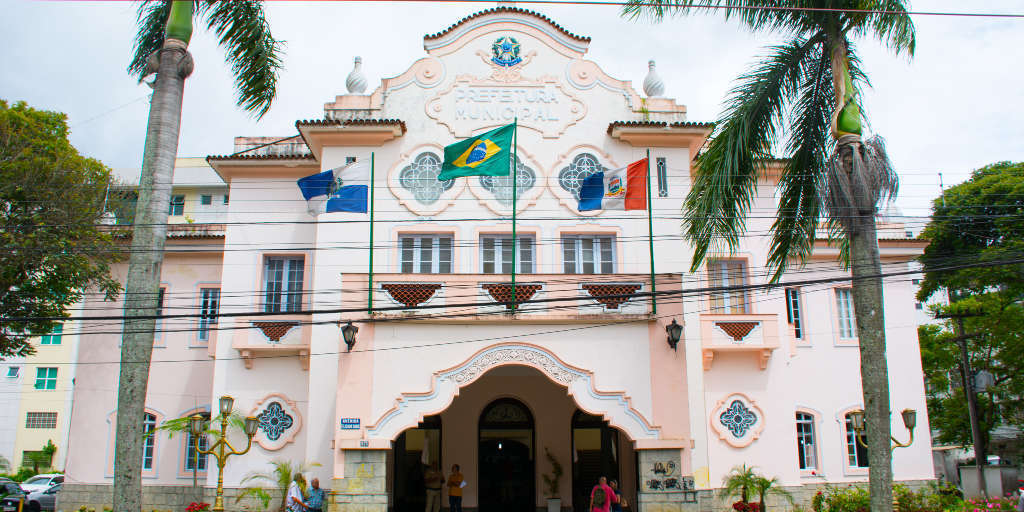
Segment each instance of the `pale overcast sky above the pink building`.
M294 135L297 119L322 118L324 102L345 93L353 56L362 56L373 90L424 55L425 34L494 5L269 2L269 23L287 54L278 99L259 122L234 106L223 52L197 27L178 155L228 154L237 135ZM653 25L623 19L609 6L518 6L593 38L587 57L637 88L653 58L666 95L687 105L690 121L713 121L733 79L777 40L711 15ZM913 8L1024 12L1024 1L921 0ZM124 1L5 0L0 98L65 112L80 152L111 167L138 167L150 89L125 72L135 12L136 4ZM870 127L887 138L901 175L897 204L906 214L927 215L938 172L949 185L991 162L1024 161L1024 18L920 15L914 23L912 60L873 41L861 41L859 50L873 85L864 97Z

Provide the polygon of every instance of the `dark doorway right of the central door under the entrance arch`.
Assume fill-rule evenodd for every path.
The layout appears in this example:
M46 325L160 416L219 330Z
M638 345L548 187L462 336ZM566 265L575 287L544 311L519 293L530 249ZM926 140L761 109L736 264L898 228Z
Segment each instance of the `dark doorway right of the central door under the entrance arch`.
M600 416L577 411L572 415L572 508L587 512L590 490L601 476L620 480L618 430Z

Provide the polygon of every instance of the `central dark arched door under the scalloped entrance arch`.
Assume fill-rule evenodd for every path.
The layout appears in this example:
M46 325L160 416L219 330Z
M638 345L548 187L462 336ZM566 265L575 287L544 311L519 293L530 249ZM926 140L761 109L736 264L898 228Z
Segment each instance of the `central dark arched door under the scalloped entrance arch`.
M534 415L521 401L499 398L478 424L480 512L536 509Z

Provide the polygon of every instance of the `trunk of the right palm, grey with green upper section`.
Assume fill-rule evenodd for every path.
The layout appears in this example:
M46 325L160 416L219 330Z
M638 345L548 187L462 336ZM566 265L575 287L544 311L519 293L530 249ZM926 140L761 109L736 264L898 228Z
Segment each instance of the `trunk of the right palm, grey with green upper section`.
M878 211L877 190L870 190L864 179L866 170L862 140L856 134L843 133L838 116L846 101L855 100L854 91L847 90L847 42L845 35L831 38L831 72L836 92L836 113L833 136L838 139L836 152L843 173L852 186L851 218L844 220L850 244L850 267L853 278L853 310L860 346L860 382L864 400L867 437L868 489L872 512L891 512L893 494L892 451L890 447L889 369L886 358L886 325L882 298L882 261L874 224ZM858 168L859 166L859 168Z

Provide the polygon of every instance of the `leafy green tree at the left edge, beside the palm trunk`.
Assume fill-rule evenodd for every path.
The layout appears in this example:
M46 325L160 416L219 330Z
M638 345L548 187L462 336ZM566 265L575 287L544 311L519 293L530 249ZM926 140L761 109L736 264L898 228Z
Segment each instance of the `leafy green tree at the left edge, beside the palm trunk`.
M68 141L68 118L0 99L0 357L32 353L95 287L106 298L118 254L98 227L111 170Z

